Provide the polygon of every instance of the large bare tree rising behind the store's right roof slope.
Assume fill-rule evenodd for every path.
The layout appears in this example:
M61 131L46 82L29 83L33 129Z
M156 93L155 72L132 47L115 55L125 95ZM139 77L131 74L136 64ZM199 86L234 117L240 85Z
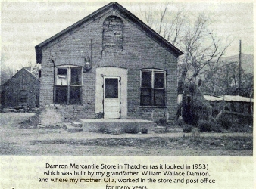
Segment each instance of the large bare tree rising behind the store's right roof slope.
M196 85L204 79L209 67L218 69L220 57L229 47L228 39L220 39L210 29L214 22L211 14L189 14L186 8L174 9L173 4L142 5L140 17L157 33L184 52L178 65L178 92L182 93L188 83Z

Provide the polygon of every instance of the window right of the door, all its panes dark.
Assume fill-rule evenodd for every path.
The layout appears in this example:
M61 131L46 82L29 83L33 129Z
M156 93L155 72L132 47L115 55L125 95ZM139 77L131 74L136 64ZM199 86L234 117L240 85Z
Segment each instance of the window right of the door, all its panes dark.
M141 71L141 106L165 106L165 71Z

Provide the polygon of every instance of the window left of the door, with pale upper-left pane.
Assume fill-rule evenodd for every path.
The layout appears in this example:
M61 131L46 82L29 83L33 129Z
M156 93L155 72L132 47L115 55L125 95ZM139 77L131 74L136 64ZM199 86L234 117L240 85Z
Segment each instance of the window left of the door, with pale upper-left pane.
M58 67L55 76L55 104L81 104L82 68Z

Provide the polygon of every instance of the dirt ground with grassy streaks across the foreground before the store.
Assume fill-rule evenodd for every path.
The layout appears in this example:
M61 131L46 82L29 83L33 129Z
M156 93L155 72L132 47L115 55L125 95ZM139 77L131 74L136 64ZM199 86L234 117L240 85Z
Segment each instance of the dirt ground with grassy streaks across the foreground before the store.
M101 134L24 128L34 113L0 113L0 155L252 156L252 133Z

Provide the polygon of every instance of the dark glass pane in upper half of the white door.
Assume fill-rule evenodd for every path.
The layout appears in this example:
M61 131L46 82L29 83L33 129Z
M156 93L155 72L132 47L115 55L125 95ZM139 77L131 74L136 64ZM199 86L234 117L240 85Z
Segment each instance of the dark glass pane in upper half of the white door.
M118 79L105 79L105 98L118 98Z

